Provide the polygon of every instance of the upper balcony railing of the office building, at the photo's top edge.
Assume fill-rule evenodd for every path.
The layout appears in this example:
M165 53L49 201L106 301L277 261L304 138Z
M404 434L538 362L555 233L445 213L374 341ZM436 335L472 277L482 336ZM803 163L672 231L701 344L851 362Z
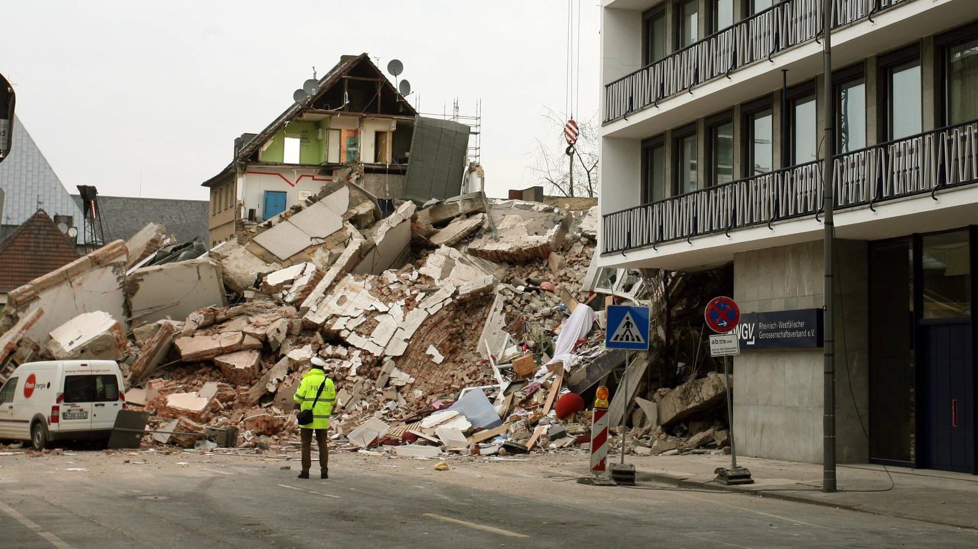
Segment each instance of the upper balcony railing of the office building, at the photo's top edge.
M823 0L785 0L604 86L604 121L688 92L822 34ZM829 0L832 28L911 0Z

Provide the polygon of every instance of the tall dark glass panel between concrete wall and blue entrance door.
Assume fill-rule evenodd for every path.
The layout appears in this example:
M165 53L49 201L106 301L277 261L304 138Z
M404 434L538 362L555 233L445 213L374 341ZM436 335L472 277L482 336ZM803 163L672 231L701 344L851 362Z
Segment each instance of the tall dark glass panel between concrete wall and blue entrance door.
M869 243L869 455L913 462L913 242Z

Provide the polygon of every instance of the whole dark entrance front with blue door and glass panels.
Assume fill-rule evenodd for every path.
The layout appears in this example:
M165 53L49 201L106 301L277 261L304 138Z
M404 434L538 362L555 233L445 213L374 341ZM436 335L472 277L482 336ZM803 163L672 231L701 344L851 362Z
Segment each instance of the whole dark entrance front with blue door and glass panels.
M869 243L874 462L978 473L974 232Z

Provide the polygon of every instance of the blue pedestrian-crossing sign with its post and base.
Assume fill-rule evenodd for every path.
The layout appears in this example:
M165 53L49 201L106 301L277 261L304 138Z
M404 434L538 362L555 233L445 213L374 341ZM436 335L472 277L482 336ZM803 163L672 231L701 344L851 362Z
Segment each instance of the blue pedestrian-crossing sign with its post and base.
M611 478L620 484L635 484L635 466L625 465L625 416L628 412L628 367L629 351L648 351L648 308L623 305L609 305L605 310L607 315L607 331L604 334L604 347L607 349L625 350L625 374L621 377L621 389L624 391L625 402L621 411L621 463L611 464Z

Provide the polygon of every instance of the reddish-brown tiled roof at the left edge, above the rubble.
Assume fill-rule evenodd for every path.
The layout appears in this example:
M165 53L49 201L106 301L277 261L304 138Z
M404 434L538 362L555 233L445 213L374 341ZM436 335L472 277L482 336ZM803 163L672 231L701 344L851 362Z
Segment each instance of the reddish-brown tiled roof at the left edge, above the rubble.
M9 292L79 257L47 212L37 210L0 242L0 292Z

